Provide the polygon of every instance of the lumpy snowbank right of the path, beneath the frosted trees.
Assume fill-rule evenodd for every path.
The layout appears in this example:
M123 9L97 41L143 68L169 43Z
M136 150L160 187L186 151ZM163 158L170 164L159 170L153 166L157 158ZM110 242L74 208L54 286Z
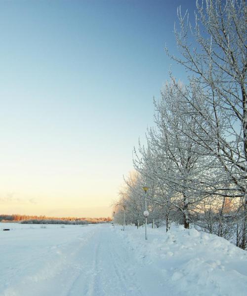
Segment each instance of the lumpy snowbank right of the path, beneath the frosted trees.
M167 233L165 227L148 228L148 241L144 228L118 230L139 262L163 274L174 295L247 295L247 252L227 240L183 226Z

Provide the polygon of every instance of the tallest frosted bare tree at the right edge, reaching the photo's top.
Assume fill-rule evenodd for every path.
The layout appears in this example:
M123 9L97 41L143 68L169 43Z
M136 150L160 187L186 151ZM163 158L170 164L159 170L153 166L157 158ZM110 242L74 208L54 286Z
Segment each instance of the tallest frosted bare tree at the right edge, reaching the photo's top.
M175 30L181 57L171 58L191 73L184 101L200 128L193 139L208 150L225 171L229 184L221 194L242 200L241 247L247 247L247 5L245 0L197 1L195 27L178 10ZM194 39L195 42L192 40ZM168 52L168 51L167 51ZM169 52L168 52L169 54ZM194 93L200 94L194 98ZM192 113L193 116L193 113ZM202 132L203 131L203 132ZM241 216L240 215L240 216Z

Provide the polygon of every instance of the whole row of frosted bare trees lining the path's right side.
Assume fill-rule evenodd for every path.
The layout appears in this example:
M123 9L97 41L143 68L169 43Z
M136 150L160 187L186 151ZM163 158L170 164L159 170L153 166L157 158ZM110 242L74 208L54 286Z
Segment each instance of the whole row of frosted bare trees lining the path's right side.
M196 23L178 10L175 37L188 84L173 78L154 101L155 127L134 149L115 221L139 225L144 192L149 222L193 223L247 248L247 6L245 1L197 3ZM194 41L192 41L194 39ZM193 47L194 46L194 47Z

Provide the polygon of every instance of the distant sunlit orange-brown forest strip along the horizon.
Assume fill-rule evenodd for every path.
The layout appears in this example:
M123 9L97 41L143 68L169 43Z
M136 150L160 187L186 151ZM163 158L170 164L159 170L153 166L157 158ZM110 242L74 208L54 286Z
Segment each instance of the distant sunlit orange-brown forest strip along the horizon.
M110 217L104 218L76 218L76 217L66 217L66 218L56 218L56 217L46 217L46 216L28 216L28 215L0 215L0 222L19 222L27 224L96 224L110 222L112 219Z

